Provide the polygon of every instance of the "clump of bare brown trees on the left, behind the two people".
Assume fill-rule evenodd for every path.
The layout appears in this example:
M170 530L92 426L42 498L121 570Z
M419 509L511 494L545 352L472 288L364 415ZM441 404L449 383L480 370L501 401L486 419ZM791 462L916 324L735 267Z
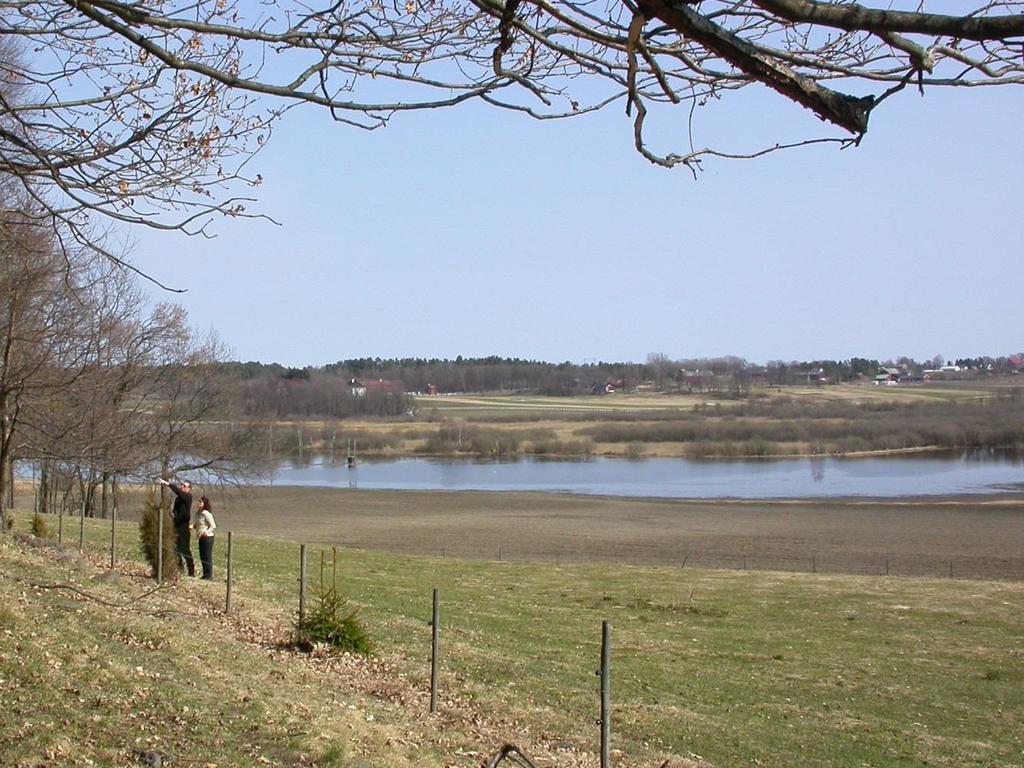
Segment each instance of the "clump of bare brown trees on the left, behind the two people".
M249 469L215 337L184 310L146 308L134 275L95 249L65 250L32 201L0 207L0 522L11 466L40 462L91 513L115 477ZM97 241L98 242L98 241Z

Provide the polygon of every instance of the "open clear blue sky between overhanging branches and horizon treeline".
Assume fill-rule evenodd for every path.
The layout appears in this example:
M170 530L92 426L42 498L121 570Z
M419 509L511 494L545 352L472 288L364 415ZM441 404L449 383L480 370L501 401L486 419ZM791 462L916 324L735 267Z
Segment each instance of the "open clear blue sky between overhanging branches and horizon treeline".
M252 169L280 226L138 232L133 259L187 287L172 298L234 358L290 366L1018 352L1022 95L908 89L860 147L710 160L696 180L636 154L618 105L546 123L468 106L372 133L303 109ZM662 118L684 148L686 111ZM748 89L698 114L696 143L815 122Z

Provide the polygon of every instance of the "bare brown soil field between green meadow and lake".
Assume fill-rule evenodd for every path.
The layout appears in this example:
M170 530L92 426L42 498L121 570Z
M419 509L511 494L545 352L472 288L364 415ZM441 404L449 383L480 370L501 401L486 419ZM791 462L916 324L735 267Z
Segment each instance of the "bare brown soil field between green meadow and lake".
M1024 580L1024 498L699 502L257 486L221 530L440 557Z

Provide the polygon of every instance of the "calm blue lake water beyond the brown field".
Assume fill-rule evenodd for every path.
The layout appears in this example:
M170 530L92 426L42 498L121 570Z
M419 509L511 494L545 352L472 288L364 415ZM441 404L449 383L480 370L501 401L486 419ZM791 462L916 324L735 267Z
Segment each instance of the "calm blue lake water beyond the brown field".
M1019 458L914 456L861 459L690 461L453 461L400 459L288 463L278 485L403 490L544 490L671 499L812 499L986 495L1024 489Z

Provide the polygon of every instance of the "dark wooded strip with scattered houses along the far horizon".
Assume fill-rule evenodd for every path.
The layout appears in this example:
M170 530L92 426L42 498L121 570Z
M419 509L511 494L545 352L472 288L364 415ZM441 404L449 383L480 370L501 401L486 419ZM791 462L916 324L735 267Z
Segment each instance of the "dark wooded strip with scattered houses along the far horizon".
M1024 354L910 357L878 360L771 360L766 365L741 357L670 359L648 355L645 362L545 362L517 357L455 359L358 357L322 367L288 368L278 364L222 362L233 383L237 404L250 415L284 417L398 416L409 412L410 394L467 392L531 393L571 396L611 391L700 391L744 396L754 385L838 384L873 378L881 370L908 376L976 379L1017 374ZM942 369L947 369L942 371ZM951 369L951 370L950 370ZM938 372L938 373L936 373Z

